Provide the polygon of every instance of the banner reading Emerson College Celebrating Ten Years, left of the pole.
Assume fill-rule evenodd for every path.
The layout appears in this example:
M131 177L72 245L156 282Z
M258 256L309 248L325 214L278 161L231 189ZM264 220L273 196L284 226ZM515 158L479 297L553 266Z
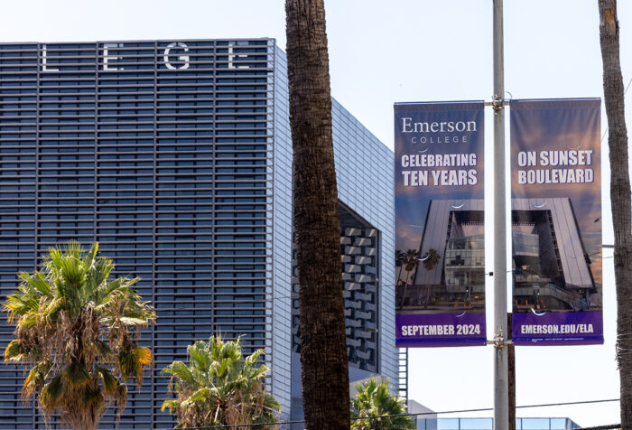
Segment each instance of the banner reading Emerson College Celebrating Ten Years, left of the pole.
M484 345L483 102L395 104L397 347Z

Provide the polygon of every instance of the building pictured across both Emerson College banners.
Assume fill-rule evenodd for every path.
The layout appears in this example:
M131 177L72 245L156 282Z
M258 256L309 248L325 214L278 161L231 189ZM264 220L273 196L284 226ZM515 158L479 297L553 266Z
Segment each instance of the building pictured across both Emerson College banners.
M484 309L484 201L431 201L420 249L436 249L441 264L417 267L404 306L464 305ZM590 271L569 198L512 199L514 310L531 312L600 309L601 294Z

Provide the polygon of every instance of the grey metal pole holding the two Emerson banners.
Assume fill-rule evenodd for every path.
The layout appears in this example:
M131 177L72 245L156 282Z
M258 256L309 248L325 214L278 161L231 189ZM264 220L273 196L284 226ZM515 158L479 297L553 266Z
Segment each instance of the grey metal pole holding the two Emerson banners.
M494 429L509 428L503 0L494 0Z

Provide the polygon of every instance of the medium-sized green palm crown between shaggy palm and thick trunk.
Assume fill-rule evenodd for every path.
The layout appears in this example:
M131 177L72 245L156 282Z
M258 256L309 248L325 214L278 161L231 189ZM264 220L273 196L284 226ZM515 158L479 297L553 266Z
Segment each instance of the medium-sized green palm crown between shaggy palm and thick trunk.
M173 361L163 369L172 375L170 389L177 396L163 402L163 410L169 408L178 419L175 428L240 424L255 424L248 427L254 430L276 428L263 424L274 422L280 408L265 392L268 369L256 366L263 352L244 358L238 339L225 342L214 336L190 345L188 365Z

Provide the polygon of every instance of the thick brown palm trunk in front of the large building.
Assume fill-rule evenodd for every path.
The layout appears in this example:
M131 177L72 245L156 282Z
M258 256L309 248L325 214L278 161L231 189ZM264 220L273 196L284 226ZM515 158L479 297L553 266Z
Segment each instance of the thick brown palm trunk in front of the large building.
M323 0L287 0L305 428L349 430L349 363Z

